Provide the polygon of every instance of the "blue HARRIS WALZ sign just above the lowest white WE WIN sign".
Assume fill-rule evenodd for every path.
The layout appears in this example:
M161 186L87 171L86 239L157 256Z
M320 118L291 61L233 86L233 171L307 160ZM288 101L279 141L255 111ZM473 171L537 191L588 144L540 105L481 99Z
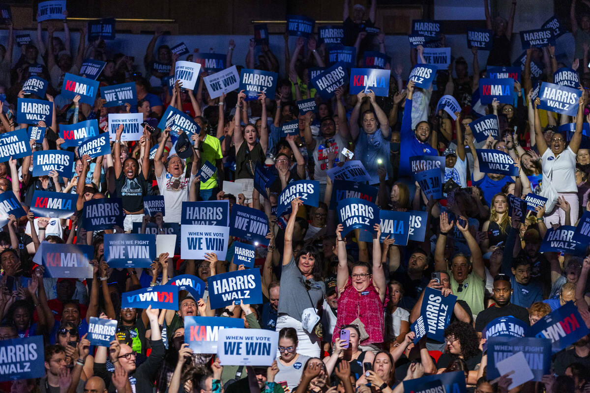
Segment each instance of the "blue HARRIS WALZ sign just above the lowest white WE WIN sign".
M260 269L235 270L207 278L211 309L224 308L231 304L254 305L262 303Z

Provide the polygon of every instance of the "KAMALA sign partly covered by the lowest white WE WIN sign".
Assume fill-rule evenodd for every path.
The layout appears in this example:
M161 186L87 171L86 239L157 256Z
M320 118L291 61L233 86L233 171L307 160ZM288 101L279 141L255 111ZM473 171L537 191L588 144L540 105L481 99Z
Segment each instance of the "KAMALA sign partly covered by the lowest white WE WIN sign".
M195 354L217 354L219 332L225 328L244 328L244 319L221 316L184 317L185 341Z

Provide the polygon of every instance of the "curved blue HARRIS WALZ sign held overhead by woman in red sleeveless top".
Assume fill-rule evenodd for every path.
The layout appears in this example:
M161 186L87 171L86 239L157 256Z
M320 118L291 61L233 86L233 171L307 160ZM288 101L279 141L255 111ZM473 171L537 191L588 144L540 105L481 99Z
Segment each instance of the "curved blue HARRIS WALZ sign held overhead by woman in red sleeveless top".
M344 226L345 236L353 229L365 229L375 233L373 226L379 223L379 207L359 198L347 198L338 202L336 207L338 221Z

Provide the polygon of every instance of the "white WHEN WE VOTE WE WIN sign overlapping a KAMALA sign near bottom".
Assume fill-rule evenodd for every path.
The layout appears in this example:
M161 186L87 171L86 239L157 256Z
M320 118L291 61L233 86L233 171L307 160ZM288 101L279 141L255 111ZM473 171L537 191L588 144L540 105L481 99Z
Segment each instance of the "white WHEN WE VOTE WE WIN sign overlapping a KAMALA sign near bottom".
M278 332L266 329L223 329L217 357L221 364L270 366L277 358Z

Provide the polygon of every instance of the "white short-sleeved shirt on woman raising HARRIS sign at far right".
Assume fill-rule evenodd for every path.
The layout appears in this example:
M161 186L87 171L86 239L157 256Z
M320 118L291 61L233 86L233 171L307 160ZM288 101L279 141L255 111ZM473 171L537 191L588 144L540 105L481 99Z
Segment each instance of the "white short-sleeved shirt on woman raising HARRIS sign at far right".
M543 166L542 184L549 184L550 172L553 169L553 186L558 193L576 193L576 153L568 146L561 154L556 157L550 148L545 150L541 156L541 165Z

